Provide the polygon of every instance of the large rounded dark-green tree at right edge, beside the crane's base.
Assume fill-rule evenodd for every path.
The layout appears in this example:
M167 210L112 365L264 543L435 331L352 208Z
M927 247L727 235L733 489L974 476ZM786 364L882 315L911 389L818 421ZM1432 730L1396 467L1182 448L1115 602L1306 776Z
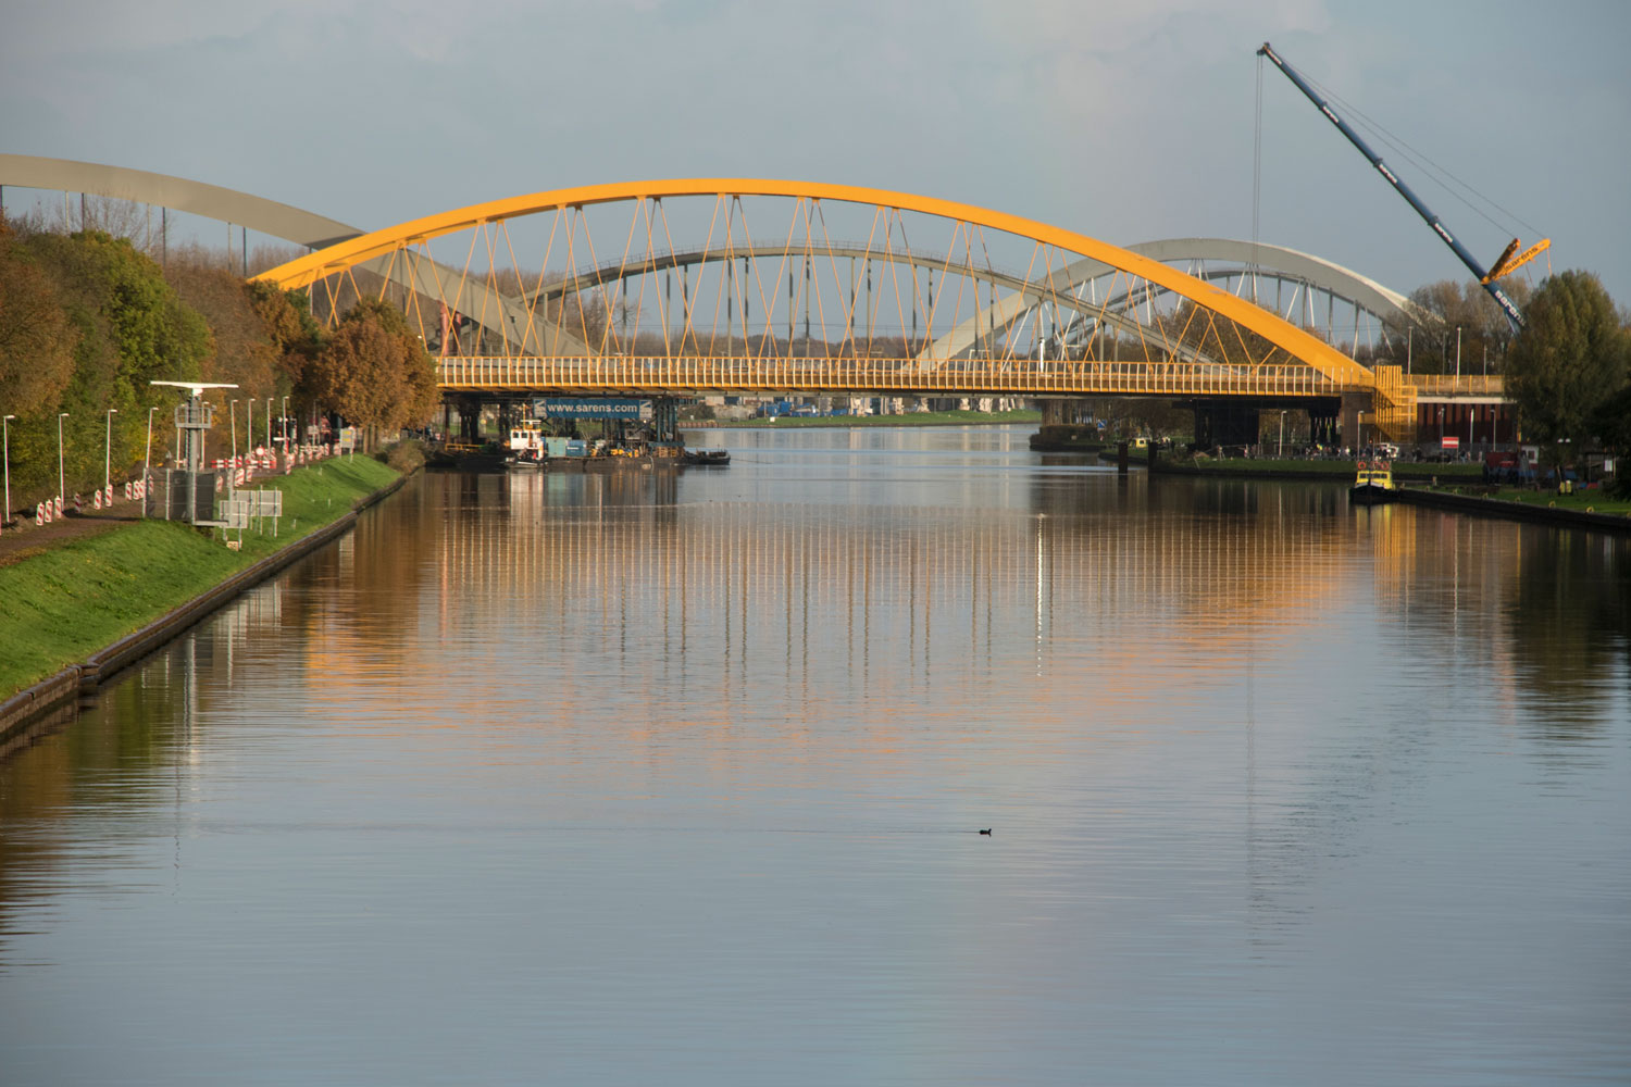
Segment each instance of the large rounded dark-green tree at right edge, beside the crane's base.
M1523 310L1525 328L1507 354L1507 394L1523 433L1551 463L1579 448L1593 419L1626 385L1631 337L1590 272L1562 272L1540 285Z

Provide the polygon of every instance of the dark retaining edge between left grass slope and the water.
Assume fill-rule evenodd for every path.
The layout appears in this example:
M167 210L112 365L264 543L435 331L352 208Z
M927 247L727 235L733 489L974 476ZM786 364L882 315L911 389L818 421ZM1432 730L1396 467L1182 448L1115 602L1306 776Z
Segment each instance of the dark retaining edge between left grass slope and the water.
M0 702L0 745L10 746L18 742L31 725L54 707L77 698L82 691L95 691L129 665L225 606L246 588L259 585L295 559L302 559L344 536L357 523L357 513L395 494L406 482L408 474L396 477L373 494L359 499L344 517L238 570L220 585L148 623L140 631L127 634L113 645L91 654L83 663L69 665L49 680L41 680L34 686L24 688Z

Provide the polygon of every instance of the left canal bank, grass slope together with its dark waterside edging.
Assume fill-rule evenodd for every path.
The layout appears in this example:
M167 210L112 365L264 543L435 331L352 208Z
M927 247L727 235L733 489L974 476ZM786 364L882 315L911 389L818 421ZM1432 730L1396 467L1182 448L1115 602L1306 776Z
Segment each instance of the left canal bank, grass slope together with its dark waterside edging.
M28 684L0 702L0 755L51 727L59 711L72 715L69 702L82 691L95 689L238 593L343 536L359 510L404 481L406 476L372 458L331 460L267 479L266 486L284 491L282 539L246 533L241 552L227 551L219 538L206 538L201 530L135 520L127 526L98 526L101 531L0 566L0 644L16 647L11 673L0 689ZM297 535L302 528L305 535ZM196 569L201 556L217 564L220 574L202 592L196 579L209 577L209 570ZM140 570L130 569L137 564ZM186 575L194 583L179 588ZM139 579L142 585L160 582L158 596L127 601L121 588ZM39 667L52 652L55 660ZM75 658L78 663L67 663ZM59 668L62 663L67 667ZM31 665L33 673L18 671Z

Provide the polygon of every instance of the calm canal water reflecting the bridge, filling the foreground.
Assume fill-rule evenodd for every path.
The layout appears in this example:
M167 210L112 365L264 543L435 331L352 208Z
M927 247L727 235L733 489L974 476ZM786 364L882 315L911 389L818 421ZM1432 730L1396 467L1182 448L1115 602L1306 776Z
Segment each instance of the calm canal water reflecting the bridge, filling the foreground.
M1028 430L414 479L0 763L0 1080L1631 1079L1631 546Z

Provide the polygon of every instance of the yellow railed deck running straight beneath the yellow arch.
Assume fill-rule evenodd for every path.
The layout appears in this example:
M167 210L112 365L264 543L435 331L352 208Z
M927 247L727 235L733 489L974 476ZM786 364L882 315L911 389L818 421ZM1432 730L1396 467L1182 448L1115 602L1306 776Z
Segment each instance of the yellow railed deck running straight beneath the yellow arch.
M455 391L822 393L822 394L1147 394L1336 396L1344 389L1297 363L1230 367L1147 360L447 357L437 381Z

